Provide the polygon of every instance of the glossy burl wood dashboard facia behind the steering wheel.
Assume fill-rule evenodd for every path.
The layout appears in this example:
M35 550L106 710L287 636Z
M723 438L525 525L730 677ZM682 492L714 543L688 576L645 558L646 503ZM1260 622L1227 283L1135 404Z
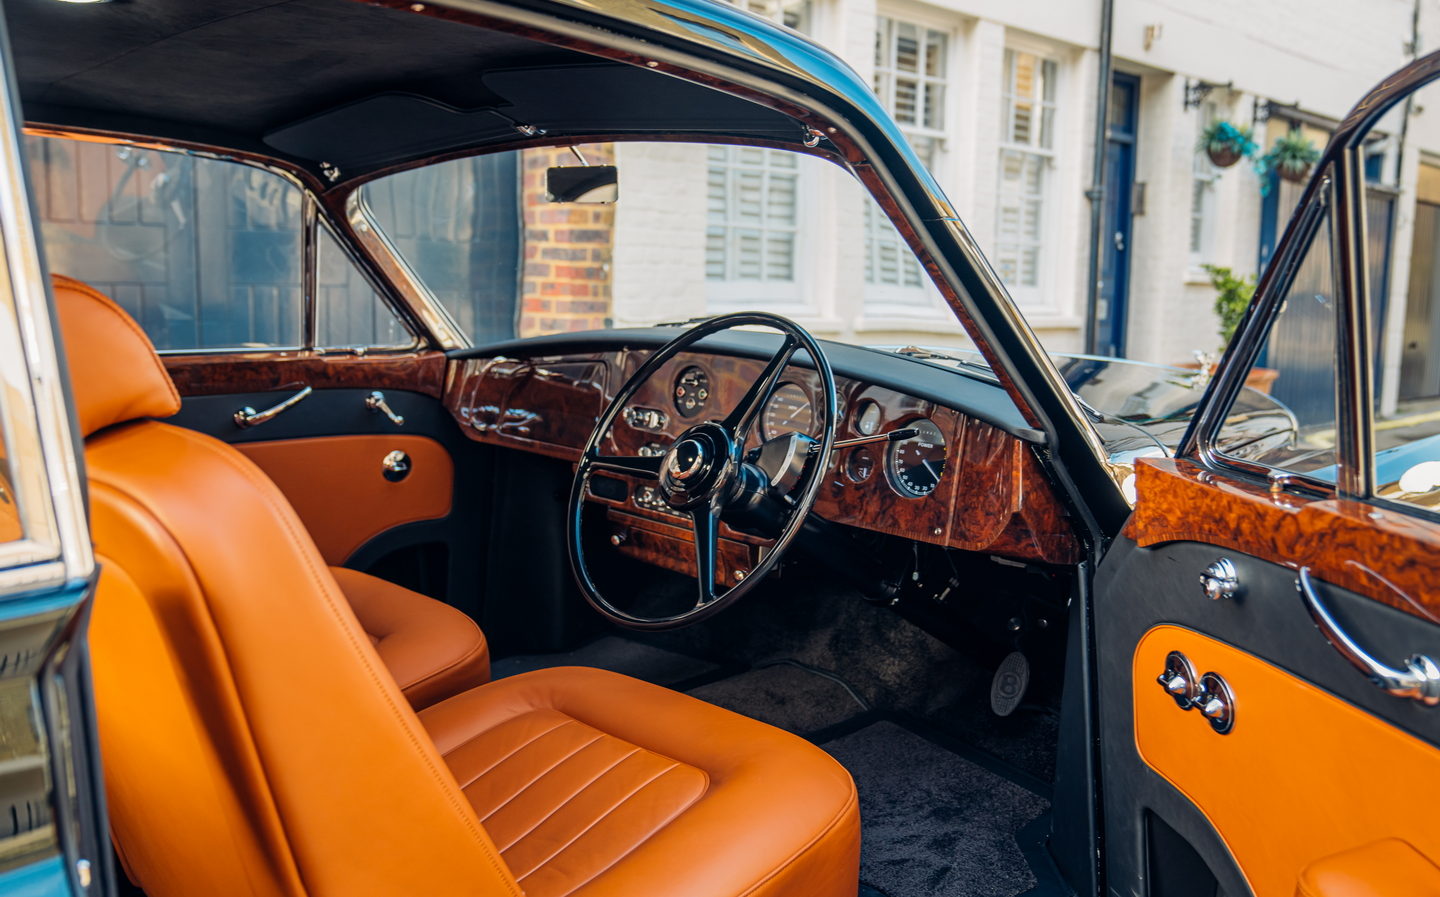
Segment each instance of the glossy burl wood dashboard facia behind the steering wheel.
M465 359L452 367L445 405L472 439L576 461L606 402L645 357L644 350L619 350ZM707 407L691 418L680 413L671 395L685 367L698 367L708 379ZM681 353L631 400L632 407L665 415L664 426L658 431L632 426L622 416L602 451L636 455L668 446L690 423L734 407L763 367L763 361L753 359ZM783 382L799 386L814 406L819 405L815 371L793 367ZM1080 559L1070 518L1027 443L955 409L891 389L841 377L837 390L838 438L860 435L854 416L867 400L880 407L880 432L929 418L945 433L946 474L933 494L906 498L887 482L886 446L865 446L877 464L863 482L847 472L852 454L861 449L841 449L825 471L815 500L816 514L832 523L936 546L1047 563L1068 564ZM662 514L624 507L631 514L671 524ZM739 541L752 540L739 537Z

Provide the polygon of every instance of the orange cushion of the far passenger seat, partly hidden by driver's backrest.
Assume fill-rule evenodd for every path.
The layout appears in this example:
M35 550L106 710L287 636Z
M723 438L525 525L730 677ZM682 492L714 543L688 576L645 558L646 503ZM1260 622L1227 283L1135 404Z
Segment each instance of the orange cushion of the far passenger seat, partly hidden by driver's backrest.
M490 648L469 616L369 573L330 572L412 707L490 681Z

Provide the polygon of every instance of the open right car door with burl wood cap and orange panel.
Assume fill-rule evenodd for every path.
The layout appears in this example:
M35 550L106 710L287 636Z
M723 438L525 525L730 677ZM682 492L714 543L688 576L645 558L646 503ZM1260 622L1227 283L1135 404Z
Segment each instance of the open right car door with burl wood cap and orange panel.
M1388 225L1369 145L1437 65L1341 124L1178 458L1139 466L1100 564L1107 870L1151 897L1440 893L1440 464L1424 416L1384 422L1394 310L1367 242ZM1261 364L1295 433L1225 454Z

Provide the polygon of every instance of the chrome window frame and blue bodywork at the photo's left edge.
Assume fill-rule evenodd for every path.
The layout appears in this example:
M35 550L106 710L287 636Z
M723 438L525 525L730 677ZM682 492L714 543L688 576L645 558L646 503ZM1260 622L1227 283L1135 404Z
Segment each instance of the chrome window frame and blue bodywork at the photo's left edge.
M109 894L94 559L0 27L0 894Z

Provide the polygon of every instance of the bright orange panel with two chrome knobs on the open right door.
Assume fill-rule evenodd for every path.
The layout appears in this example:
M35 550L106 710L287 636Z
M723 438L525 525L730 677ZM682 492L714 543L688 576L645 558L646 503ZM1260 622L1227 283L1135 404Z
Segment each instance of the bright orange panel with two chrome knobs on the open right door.
M1155 681L1171 651L1230 684L1230 733ZM1440 860L1440 750L1426 742L1179 626L1140 639L1133 691L1140 757L1205 815L1257 897L1293 897L1316 861L1385 838Z

